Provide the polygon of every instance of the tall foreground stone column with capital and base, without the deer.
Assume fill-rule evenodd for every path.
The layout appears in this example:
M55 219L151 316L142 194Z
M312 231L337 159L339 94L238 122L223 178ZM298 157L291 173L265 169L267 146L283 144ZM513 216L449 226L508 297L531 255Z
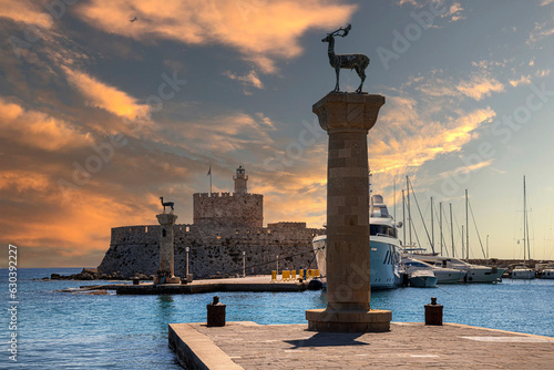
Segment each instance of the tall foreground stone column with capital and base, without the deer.
M384 96L329 93L314 104L329 135L327 308L306 311L317 331L388 331L391 311L370 309L367 135Z

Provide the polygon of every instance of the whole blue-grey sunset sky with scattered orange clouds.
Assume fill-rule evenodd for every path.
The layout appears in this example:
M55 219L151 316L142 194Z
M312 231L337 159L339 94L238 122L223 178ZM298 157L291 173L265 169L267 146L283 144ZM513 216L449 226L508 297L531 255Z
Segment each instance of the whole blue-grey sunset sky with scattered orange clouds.
M490 257L523 258L525 175L531 257L553 259L553 0L0 0L2 266L8 244L20 267L98 266L112 227L156 224L160 196L192 224L209 167L232 192L244 165L264 224L321 227L311 105L335 86L321 40L348 23L335 51L368 55L363 91L386 96L373 194L401 220L409 176L419 243L432 197L439 250L442 203L449 255L452 204L460 256L468 189L470 256L489 238ZM341 71L341 91L358 84Z

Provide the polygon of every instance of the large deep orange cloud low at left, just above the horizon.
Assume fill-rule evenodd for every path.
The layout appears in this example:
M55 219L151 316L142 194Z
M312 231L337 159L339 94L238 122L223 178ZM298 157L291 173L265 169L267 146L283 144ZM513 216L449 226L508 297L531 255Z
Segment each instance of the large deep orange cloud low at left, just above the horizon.
M82 187L66 201L45 173L2 172L0 189L13 202L0 217L0 237L2 241L35 249L39 257L25 258L22 263L27 267L45 267L39 250L65 257L95 255L99 259L86 263L95 266L110 246L111 227L155 224L157 204L134 202L130 195L120 202L114 192L105 195L93 187ZM52 264L63 265L60 259Z

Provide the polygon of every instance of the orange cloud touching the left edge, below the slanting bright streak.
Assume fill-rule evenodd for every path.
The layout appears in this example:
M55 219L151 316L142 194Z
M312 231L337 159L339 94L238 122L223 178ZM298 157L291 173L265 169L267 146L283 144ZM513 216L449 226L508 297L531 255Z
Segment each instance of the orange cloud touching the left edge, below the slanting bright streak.
M70 123L0 97L0 137L44 151L65 151L92 143Z

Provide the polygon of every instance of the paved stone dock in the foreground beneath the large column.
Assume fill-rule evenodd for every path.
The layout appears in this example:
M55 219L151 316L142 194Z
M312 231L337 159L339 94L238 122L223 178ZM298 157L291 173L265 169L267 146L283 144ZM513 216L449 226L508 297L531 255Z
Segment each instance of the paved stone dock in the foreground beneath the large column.
M389 332L308 331L307 325L171 323L187 369L547 369L554 338L456 323L392 322Z

